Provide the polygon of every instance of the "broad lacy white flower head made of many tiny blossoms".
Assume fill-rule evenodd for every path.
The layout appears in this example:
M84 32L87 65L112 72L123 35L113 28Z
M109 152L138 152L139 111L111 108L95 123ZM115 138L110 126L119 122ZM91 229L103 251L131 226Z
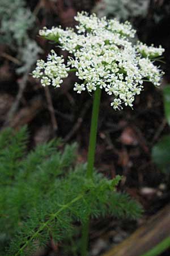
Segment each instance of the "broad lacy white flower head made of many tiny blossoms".
M67 73L75 71L79 80L74 90L93 92L97 86L113 97L113 109L122 109L122 105L133 106L136 94L143 88L143 80L158 86L163 72L154 65L164 49L138 42L132 43L135 30L129 22L120 23L116 19L97 18L95 14L78 13L75 20L77 33L72 28L46 27L40 35L58 43L71 56L65 65L63 57L54 51L48 55L46 63L37 61L32 72L33 77L40 78L43 86L52 84L59 87Z

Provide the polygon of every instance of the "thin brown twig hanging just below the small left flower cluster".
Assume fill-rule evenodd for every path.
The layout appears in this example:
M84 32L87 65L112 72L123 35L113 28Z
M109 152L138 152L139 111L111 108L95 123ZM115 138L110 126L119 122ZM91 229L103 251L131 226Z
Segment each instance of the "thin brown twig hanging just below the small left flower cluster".
M44 87L44 90L45 90L46 101L48 103L48 110L49 110L50 117L52 120L53 131L54 131L54 133L56 133L56 131L58 130L58 125L57 125L57 119L55 116L55 111L53 108L52 98L50 96L49 88L47 86Z

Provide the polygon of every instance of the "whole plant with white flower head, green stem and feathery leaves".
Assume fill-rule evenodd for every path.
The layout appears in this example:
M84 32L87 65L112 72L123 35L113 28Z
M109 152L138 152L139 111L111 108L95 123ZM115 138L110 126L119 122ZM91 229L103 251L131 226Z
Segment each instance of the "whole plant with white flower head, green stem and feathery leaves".
M120 176L108 180L94 169L100 96L102 90L109 94L114 110L121 110L123 106L132 108L135 95L143 89L143 81L159 86L163 72L154 65L154 59L159 59L164 49L161 46L147 47L141 42L134 44L135 30L129 22L99 19L95 14L89 16L85 12L78 13L75 20L78 22L76 32L61 27L40 30L40 36L53 41L70 56L65 61L52 50L46 61L37 61L32 75L40 79L42 86L58 88L63 79L74 72L79 79L74 91L87 90L94 94L87 164L71 170L74 166L73 148L66 146L66 151L61 154L54 152L50 144L49 152L36 149L25 160L23 155L19 156L18 175L13 169L9 174L3 172L8 175L6 180L14 179L14 193L10 197L15 209L12 216L20 227L9 224L14 225L11 229L18 235L7 249L8 256L30 255L38 246L47 244L50 237L56 242L68 239L74 234L75 221L82 224L79 251L82 256L87 256L90 218L107 214L136 218L142 212L129 196L116 192ZM6 142L3 147L9 150ZM3 162L7 161L7 155L1 157ZM11 157L14 162L15 155ZM10 193L11 182L3 184L3 189L2 201ZM16 198L21 198L18 205L14 203ZM10 215L6 209L4 205L2 216Z

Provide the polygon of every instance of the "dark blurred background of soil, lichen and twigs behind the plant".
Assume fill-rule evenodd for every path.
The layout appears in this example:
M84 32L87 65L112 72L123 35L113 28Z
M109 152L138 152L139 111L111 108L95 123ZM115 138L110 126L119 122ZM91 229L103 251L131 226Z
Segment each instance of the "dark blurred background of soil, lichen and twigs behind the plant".
M154 88L146 83L134 110L115 112L108 104L109 96L101 98L95 166L108 177L124 175L119 189L137 199L145 214L128 223L94 221L91 255L100 255L169 204L170 1L0 0L0 125L16 130L28 125L30 148L54 137L65 143L76 141L78 161L86 161L92 98L73 91L74 74L59 89L42 88L30 75L36 60L45 59L56 47L38 36L39 29L74 27L74 16L82 10L121 22L129 20L137 30L136 40L165 48L163 60L156 63L165 72L162 85ZM67 52L62 54L67 57Z

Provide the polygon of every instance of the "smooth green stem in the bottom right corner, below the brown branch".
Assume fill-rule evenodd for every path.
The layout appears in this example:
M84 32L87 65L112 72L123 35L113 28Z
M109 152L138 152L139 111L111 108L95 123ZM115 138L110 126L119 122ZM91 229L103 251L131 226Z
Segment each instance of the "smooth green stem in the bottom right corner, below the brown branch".
M141 256L158 256L160 253L163 253L163 251L167 250L168 247L170 247L170 237L166 237L162 242L158 243L158 245Z

